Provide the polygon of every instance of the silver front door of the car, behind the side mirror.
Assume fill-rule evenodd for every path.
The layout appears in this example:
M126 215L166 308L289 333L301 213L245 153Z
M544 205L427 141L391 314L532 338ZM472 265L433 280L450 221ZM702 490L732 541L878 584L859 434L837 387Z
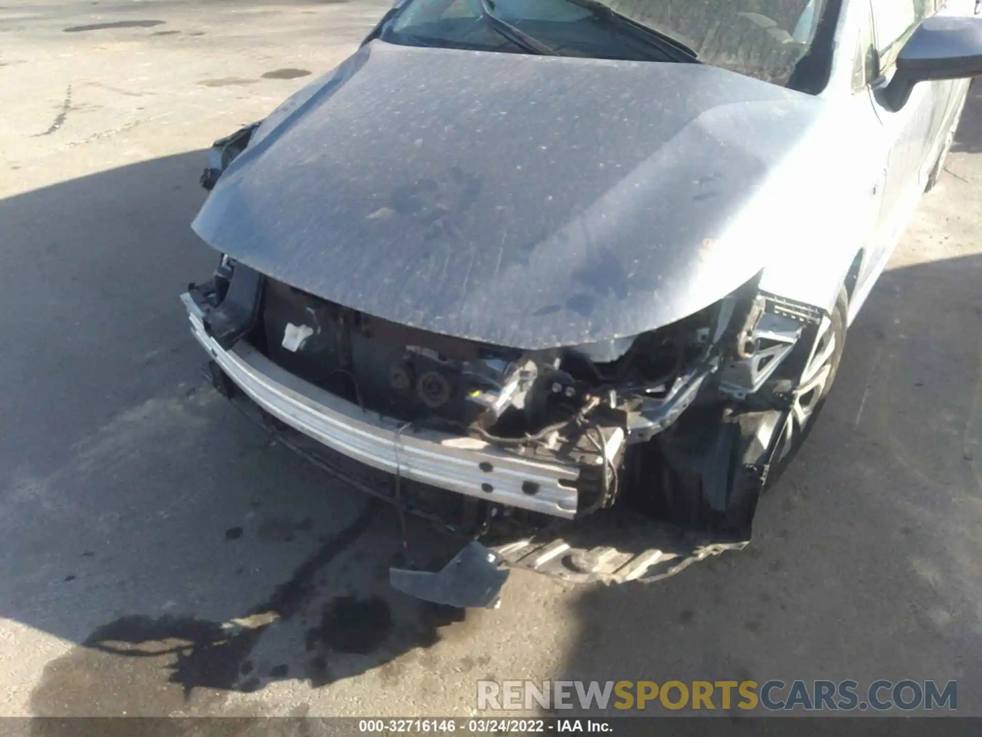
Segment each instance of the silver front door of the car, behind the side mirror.
M874 253L868 254L868 260L882 265L924 192L937 143L944 135L952 83L916 85L907 103L893 110L884 89L897 73L897 56L903 44L925 18L934 15L935 0L870 0L870 4L875 78L869 84L869 94L883 125L887 152L882 204L872 239Z

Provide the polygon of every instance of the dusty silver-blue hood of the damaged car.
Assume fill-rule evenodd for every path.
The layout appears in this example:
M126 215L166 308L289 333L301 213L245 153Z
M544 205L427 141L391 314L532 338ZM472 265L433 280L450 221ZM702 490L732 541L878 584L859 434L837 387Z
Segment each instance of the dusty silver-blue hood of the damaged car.
M192 227L435 332L529 349L634 335L763 267L746 223L821 104L695 64L373 41L266 119Z

